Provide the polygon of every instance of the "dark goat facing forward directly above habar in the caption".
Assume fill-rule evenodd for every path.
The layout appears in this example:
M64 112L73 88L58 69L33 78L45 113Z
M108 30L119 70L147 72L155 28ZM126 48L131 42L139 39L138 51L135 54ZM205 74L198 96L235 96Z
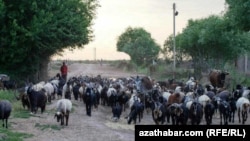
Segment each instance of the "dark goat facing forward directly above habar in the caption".
M166 108L160 102L153 102L152 117L156 125L164 124L166 117Z

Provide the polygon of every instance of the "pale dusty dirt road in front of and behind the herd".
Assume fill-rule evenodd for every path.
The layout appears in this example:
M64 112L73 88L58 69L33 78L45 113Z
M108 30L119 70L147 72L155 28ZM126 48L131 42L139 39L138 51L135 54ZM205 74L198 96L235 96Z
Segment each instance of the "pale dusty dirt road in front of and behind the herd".
M56 72L52 72L54 75ZM89 75L102 77L119 77L119 76L136 76L135 73L128 73L103 64L78 64L69 65L69 77L77 75ZM48 104L46 112L38 113L29 119L10 119L11 129L18 132L30 133L34 137L25 139L26 141L134 141L134 125L128 125L124 118L128 114L128 110L122 113L121 119L118 122L111 120L111 108L99 106L98 110L92 112L92 116L86 115L85 105L82 101L73 102L73 111L69 117L69 125L61 127L54 119L55 101ZM247 124L249 124L249 120ZM235 123L238 124L238 118L235 116ZM219 123L218 115L215 117L214 124ZM141 123L152 124L151 114L144 113ZM204 121L201 124L205 124ZM42 130L39 127L53 126Z

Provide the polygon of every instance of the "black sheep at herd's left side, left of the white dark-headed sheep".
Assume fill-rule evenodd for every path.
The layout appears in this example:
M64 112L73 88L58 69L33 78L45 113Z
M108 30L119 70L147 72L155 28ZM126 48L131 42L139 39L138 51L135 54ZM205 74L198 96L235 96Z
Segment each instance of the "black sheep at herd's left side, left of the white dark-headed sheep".
M31 113L36 114L38 108L41 108L41 113L45 111L47 96L45 91L42 89L40 91L36 91L32 86L28 86L27 95L30 101L30 110Z

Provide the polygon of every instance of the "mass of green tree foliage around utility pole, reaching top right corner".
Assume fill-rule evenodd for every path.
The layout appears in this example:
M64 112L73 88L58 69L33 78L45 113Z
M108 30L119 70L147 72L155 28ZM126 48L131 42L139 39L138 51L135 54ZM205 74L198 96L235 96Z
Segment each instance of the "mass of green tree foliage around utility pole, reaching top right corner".
M190 19L176 36L178 55L191 58L196 72L222 68L226 62L234 62L250 51L249 1L226 1L228 9L224 15ZM173 51L172 42L172 36L166 39L164 52Z

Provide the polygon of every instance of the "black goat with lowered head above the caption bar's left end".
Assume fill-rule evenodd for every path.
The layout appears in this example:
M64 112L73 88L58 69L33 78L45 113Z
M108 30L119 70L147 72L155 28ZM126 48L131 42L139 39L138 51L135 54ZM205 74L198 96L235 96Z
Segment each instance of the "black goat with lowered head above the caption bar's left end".
M144 105L140 101L136 100L134 101L133 105L130 108L130 113L128 115L128 124L130 124L133 120L134 124L137 123L137 118L139 123L141 122L141 119L143 118L143 111L144 111Z

